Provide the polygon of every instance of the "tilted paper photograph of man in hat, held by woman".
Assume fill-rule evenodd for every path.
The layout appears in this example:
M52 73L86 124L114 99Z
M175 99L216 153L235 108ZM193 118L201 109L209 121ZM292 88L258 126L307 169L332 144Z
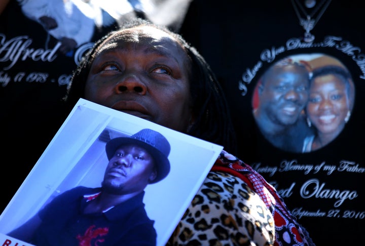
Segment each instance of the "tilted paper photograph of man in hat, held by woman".
M1 215L0 240L165 245L222 149L80 99Z

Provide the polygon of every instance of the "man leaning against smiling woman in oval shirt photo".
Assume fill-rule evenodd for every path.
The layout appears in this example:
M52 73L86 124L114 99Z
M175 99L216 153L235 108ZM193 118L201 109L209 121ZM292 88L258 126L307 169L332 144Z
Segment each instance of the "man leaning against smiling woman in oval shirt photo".
M290 58L273 64L257 90L253 115L264 137L281 150L302 152L303 140L310 135L304 115L309 96L306 64Z

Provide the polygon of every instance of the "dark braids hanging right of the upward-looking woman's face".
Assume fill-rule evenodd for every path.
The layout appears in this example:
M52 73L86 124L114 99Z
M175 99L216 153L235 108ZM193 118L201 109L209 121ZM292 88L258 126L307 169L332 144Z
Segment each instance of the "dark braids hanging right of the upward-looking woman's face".
M236 137L223 89L204 58L193 47L187 53L193 63L190 92L196 115L188 134L221 144L235 153Z

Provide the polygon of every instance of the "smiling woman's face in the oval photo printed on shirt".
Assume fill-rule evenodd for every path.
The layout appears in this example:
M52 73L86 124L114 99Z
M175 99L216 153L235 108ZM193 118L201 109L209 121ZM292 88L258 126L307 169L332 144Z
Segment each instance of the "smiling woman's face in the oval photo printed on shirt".
M311 84L307 113L319 133L339 134L349 110L345 82L328 74L316 77Z

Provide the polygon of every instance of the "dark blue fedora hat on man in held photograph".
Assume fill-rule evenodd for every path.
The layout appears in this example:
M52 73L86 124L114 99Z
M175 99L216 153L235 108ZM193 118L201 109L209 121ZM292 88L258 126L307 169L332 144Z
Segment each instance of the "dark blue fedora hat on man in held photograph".
M170 172L170 161L168 155L170 153L170 143L159 132L151 129L143 129L130 137L119 137L109 140L105 145L106 156L110 160L115 151L125 144L137 144L147 150L155 160L157 168L157 177L151 182L157 183L164 179Z

